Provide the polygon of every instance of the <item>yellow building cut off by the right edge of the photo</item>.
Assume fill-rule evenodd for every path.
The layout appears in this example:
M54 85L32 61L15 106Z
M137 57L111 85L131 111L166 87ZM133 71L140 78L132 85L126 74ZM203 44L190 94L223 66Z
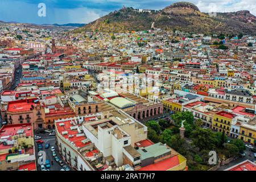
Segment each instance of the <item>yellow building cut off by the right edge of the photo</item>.
M244 142L256 145L256 120L243 123L240 126L239 138Z

